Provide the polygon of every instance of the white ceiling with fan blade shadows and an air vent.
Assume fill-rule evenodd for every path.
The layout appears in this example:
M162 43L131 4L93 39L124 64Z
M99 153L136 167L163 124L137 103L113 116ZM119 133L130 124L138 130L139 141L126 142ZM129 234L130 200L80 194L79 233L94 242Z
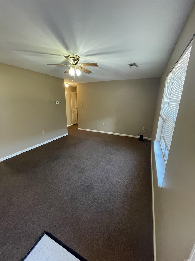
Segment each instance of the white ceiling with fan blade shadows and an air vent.
M1 0L0 62L64 78L63 55L87 67L76 83L161 76L194 0ZM128 63L137 62L130 69Z

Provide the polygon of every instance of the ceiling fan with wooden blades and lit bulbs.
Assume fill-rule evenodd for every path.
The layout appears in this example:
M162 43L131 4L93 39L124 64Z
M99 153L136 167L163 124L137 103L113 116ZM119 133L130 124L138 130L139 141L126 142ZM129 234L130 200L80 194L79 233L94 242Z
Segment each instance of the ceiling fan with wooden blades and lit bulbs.
M64 72L64 73L69 73L71 76L76 75L79 76L81 75L81 71L85 73L92 73L90 70L87 70L83 66L98 66L97 63L79 63L80 57L75 54L70 54L69 56L64 55L66 60L69 61L70 64L53 64L53 63L48 63L47 65L63 65L63 66L69 66L69 68Z

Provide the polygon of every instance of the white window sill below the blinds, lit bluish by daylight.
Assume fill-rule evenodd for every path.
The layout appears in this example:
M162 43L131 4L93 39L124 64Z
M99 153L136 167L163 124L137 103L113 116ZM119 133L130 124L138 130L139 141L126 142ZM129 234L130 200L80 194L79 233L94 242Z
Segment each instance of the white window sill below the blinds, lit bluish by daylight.
M161 145L158 141L154 141L154 155L156 162L158 187L162 188L162 182L165 174L165 162L161 151Z

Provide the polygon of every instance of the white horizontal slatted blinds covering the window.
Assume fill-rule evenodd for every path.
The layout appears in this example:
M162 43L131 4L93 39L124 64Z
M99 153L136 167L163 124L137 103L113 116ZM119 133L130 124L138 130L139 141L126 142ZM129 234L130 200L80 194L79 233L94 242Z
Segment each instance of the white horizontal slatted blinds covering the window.
M186 50L183 56L176 63L175 67L168 74L165 82L165 90L162 99L160 116L165 122L165 128L161 135L168 152L171 146L171 140L182 95L190 51L191 46Z

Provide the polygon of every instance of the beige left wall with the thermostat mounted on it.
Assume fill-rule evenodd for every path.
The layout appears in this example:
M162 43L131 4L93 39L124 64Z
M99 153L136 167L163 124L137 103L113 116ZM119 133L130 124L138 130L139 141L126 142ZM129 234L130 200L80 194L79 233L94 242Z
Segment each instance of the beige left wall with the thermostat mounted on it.
M0 158L67 133L63 79L2 63L0 70Z

